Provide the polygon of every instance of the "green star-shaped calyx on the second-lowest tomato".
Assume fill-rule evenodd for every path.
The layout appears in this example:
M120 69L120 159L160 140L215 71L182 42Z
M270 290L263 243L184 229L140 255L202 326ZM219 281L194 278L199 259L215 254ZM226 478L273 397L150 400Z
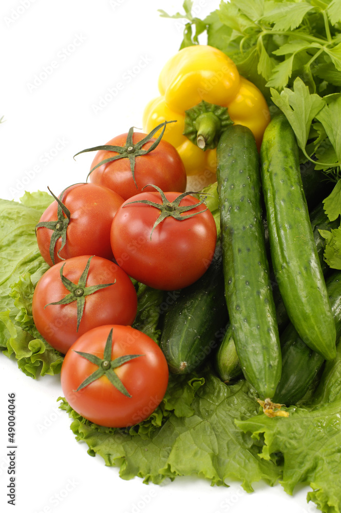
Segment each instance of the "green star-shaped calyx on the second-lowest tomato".
M100 290L102 288L109 287L110 285L114 285L116 282L116 280L115 280L113 283L99 283L98 285L91 285L90 287L86 286L86 280L88 278L90 261L93 258L93 256L94 255L92 255L92 257L90 257L89 260L87 261L85 269L82 272L81 277L78 280L78 283L73 283L68 278L66 278L66 276L64 276L63 270L64 270L65 264L62 265L62 267L59 271L60 277L61 277L64 287L66 287L67 290L69 291L69 294L67 294L60 301L56 301L54 303L48 303L47 305L44 306L44 308L46 308L47 306L50 306L50 305L68 305L69 303L72 303L73 301L77 301L77 331L78 331L79 325L81 324L81 320L83 317L83 311L84 311L84 306L85 306L85 297L89 294L93 294L93 292L97 292L98 290Z

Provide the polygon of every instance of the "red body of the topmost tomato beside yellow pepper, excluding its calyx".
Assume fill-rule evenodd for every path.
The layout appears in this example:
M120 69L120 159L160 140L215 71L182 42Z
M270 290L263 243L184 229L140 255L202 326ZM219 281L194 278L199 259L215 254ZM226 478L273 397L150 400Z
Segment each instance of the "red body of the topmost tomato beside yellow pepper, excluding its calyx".
M113 137L107 144L112 146L125 146L127 133ZM145 133L134 132L132 142L135 144L146 136ZM150 141L142 147L147 150L155 141L152 137ZM99 164L104 159L117 155L115 151L100 150L94 156L90 169ZM187 175L177 150L167 141L161 140L158 146L147 153L136 157L135 161L135 180L132 177L129 159L118 159L116 161L102 164L94 169L89 175L89 181L104 185L117 192L124 200L138 194L142 188L149 184L154 184L162 190L179 190L184 192L186 189ZM144 189L153 190L146 187Z

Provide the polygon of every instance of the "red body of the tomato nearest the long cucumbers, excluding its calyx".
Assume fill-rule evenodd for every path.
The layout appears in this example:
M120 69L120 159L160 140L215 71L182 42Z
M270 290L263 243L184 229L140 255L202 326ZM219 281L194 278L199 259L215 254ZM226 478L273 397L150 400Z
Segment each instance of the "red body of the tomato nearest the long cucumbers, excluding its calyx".
M166 192L173 202L178 192ZM210 265L217 239L215 221L210 210L194 196L187 195L180 206L194 205L181 216L196 215L182 221L169 216L153 226L159 218L157 207L132 201L162 203L159 192L142 192L125 201L111 225L111 246L116 262L129 274L149 287L176 290L198 280Z

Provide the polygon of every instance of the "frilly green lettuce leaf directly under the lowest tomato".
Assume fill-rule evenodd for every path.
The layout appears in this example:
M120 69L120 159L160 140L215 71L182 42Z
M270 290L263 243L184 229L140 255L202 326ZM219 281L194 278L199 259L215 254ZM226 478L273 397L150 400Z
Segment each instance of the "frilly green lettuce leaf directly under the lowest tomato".
M123 479L139 476L145 483L159 484L165 478L197 476L216 485L238 479L245 490L253 491L254 482L273 485L281 476L276 458L259 459L259 444L235 425L235 419L249 418L259 409L254 390L244 380L227 386L210 371L201 377L171 377L154 415L154 429L143 428L150 424L147 419L135 433L133 428L92 424L65 399L59 400L73 419L76 439L88 445L90 455L98 454L106 465L118 466ZM159 426L157 418L157 422L162 419Z

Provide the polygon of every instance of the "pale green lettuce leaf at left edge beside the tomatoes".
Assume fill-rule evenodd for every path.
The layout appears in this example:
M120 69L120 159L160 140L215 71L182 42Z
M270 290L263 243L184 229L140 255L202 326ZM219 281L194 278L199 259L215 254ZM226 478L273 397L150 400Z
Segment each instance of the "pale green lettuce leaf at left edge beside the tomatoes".
M26 192L21 202L0 200L0 348L27 376L60 372L62 357L37 331L34 287L48 264L39 252L35 225L53 198Z

